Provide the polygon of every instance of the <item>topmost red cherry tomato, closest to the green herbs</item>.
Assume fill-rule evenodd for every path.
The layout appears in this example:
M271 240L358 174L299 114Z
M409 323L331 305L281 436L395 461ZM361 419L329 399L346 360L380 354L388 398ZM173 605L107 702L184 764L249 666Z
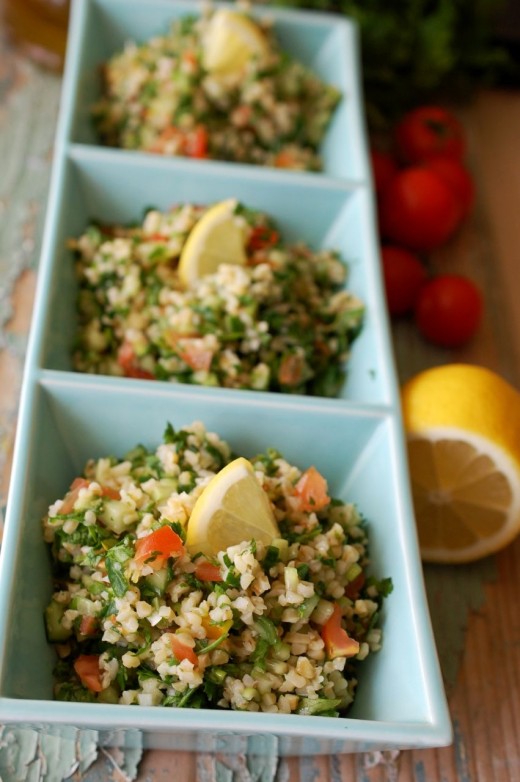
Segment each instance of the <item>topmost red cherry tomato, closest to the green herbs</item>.
M398 155L405 163L420 163L435 155L464 156L464 130L442 106L420 106L407 112L394 130Z

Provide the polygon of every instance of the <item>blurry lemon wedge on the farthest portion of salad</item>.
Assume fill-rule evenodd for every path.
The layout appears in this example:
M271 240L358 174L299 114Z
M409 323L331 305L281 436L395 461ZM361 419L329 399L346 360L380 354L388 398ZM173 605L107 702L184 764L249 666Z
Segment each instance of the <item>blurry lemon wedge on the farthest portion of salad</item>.
M204 36L204 67L215 76L239 76L252 57L267 49L258 25L245 14L222 8L211 17Z

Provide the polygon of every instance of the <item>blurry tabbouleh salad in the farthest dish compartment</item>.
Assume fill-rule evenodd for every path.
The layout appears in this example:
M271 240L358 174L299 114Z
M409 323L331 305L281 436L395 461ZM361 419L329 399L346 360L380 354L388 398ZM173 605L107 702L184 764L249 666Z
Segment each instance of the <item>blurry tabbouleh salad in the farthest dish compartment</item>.
M100 140L163 155L319 170L339 91L281 50L272 24L249 16L265 47L235 74L208 71L211 18L208 10L180 19L169 33L129 42L104 64L102 97L92 109Z

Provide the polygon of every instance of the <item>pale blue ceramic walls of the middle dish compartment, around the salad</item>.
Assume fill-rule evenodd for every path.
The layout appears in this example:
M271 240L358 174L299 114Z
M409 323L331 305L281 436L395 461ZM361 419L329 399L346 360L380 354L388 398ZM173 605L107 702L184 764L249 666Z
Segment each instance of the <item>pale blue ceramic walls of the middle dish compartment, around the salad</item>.
M349 268L347 288L366 307L339 396L379 404L394 398L374 216L366 188L327 186L316 179L302 188L293 179L280 181L251 170L246 175L225 163L195 169L184 160L123 159L79 146L65 160L57 185L49 206L34 324L41 366L72 368L76 279L68 239L79 236L92 219L128 224L142 219L150 206L168 209L175 203L211 204L233 197L273 217L284 242L302 240L316 249L339 251Z

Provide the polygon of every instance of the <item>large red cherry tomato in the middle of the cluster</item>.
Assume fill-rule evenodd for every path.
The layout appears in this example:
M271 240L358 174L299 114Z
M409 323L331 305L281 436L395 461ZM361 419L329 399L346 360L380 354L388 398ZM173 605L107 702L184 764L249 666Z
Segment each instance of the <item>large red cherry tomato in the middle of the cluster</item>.
M460 207L435 171L412 166L387 184L379 219L384 239L410 250L433 250L451 236L460 222Z

